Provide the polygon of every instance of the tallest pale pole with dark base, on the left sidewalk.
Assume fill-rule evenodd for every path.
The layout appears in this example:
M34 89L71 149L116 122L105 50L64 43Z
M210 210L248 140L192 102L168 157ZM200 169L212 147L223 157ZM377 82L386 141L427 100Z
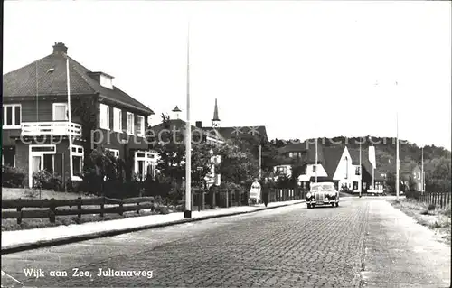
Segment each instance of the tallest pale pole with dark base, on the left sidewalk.
M190 125L190 22L187 25L187 120L185 135L185 211L192 218L192 125Z

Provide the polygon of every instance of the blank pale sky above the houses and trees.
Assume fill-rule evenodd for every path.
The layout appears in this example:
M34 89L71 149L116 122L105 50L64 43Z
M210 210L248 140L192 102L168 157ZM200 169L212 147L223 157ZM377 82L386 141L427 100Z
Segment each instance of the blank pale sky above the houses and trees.
M5 2L4 73L55 42L153 124L185 117L188 54L193 124L211 125L217 98L221 126L270 139L395 136L398 118L401 139L450 150L448 1Z

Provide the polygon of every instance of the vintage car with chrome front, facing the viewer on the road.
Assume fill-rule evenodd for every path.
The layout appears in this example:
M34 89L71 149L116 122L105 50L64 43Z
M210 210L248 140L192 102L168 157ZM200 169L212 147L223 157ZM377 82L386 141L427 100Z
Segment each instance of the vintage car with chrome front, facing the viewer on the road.
M339 206L339 192L333 182L312 183L311 190L306 193L307 208L318 205Z

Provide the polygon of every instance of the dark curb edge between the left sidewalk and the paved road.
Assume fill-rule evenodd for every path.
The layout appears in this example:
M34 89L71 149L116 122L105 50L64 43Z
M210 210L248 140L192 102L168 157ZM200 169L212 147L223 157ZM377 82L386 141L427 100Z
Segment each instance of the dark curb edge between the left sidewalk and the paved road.
M38 248L43 248L43 247L48 247L48 246L61 246L61 245L65 245L65 244L71 244L71 243L86 241L86 240L90 240L90 239L96 239L96 238L101 238L101 237L112 237L112 236L130 233L130 232L137 232L137 231L152 229L152 228L163 228L163 227L167 227L167 226L179 225L179 224L184 224L184 223L189 223L189 222L197 222L197 221L207 220L207 219L211 219L211 218L221 218L221 217L230 217L230 216L241 215L241 214L256 213L256 212L259 212L262 210L277 209L277 208L281 208L281 207L287 207L287 206L301 204L304 202L305 202L305 200L299 200L295 203L283 204L283 205L274 206L274 207L263 207L263 208L255 209L252 211L231 212L231 213L225 213L225 214L220 214L220 215L203 216L203 217L199 217L199 218L184 218L182 220L176 220L176 221L160 223L160 224L150 224L150 225L137 227L137 228L124 228L124 229L118 229L118 230L108 230L108 231L101 231L101 232L91 233L91 234L82 235L82 236L70 236L70 237L63 237L63 238L58 238L58 239L43 240L43 241L34 242L34 243L19 244L19 245L15 245L15 246L8 246L5 248L2 247L1 253L2 253L2 255L6 255L6 254L13 254L13 253L17 253L17 252L23 252L23 251L27 251L27 250L33 250L33 249L38 249Z

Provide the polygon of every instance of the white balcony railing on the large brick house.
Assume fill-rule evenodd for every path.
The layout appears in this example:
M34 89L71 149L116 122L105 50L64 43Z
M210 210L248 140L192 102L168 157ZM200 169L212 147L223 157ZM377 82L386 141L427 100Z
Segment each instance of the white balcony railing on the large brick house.
M67 121L53 122L23 122L22 133L24 136L52 135L52 136L80 136L81 125Z

